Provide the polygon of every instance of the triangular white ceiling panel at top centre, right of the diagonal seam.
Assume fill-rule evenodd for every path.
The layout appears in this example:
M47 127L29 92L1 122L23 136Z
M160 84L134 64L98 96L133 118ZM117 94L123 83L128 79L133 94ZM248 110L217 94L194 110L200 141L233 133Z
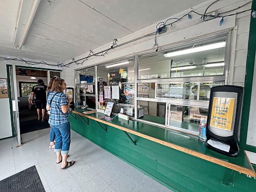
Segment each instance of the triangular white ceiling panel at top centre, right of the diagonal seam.
M135 32L205 2L204 0L79 0Z

